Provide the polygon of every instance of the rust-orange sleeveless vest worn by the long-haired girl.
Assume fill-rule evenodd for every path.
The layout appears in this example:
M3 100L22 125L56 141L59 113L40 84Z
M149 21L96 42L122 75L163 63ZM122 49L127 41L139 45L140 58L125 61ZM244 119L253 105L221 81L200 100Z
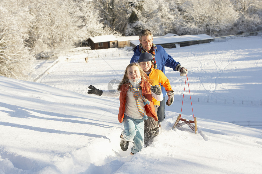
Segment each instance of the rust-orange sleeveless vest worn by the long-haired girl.
M143 79L140 83L141 89L142 89L142 95L147 98L147 100L150 101L150 104L145 105L145 111L148 117L153 117L155 121L158 121L157 113L155 112L154 104L152 102L152 96L151 96L151 90L150 85L148 82L145 82ZM127 90L129 89L129 86L127 84L123 84L120 87L120 106L119 106L119 113L118 113L118 121L122 123L124 114L125 114L125 107L126 107L126 94ZM142 105L141 105L142 107Z

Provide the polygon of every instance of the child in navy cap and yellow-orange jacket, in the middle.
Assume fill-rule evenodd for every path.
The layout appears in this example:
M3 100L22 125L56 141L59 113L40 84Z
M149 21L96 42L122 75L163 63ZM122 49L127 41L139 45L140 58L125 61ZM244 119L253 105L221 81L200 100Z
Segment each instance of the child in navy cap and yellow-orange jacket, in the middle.
M160 87L160 84L165 88L166 93L168 94L168 101L166 104L170 106L174 101L174 91L171 88L168 78L165 74L158 69L154 69L154 60L153 56L150 53L142 53L138 59L139 65L142 67L143 71L148 76L148 81L151 85L157 85ZM154 91L153 91L154 92ZM157 94L157 93L156 93ZM155 107L155 111L158 111L158 107L160 105L160 101L157 101L153 98L153 103ZM146 146L150 146L154 141L154 137L159 134L158 121L155 121L152 118L148 118L145 121L144 128L144 143Z

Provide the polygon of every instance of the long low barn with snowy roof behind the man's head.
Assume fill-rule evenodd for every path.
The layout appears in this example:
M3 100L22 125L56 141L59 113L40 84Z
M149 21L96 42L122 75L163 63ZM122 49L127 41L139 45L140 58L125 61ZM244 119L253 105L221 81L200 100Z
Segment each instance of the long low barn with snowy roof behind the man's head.
M214 41L214 38L206 34L153 37L153 43L161 45L163 48L175 48L177 46L210 43L211 41ZM139 40L130 41L130 46L135 47L139 44Z

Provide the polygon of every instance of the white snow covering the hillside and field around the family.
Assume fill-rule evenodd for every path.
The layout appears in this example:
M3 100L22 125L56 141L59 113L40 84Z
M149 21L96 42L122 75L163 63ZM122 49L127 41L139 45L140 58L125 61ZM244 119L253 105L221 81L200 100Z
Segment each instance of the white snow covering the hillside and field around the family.
M119 147L119 99L87 94L90 84L107 90L122 79L130 47L59 57L36 82L0 76L0 173L260 173L261 43L243 37L166 49L189 71L193 113L186 77L166 67L175 102L165 107L160 135L135 155L132 144ZM38 74L50 61L38 61ZM198 134L172 129L184 87L182 118L194 114Z

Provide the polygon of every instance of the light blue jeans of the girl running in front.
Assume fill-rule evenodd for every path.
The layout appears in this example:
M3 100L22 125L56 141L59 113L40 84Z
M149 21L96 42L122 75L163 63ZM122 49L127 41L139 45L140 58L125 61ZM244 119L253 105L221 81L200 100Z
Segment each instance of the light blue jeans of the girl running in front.
M122 131L124 139L127 141L134 141L131 152L137 153L141 151L144 139L144 119L134 119L124 115L122 123L124 125L124 130Z

